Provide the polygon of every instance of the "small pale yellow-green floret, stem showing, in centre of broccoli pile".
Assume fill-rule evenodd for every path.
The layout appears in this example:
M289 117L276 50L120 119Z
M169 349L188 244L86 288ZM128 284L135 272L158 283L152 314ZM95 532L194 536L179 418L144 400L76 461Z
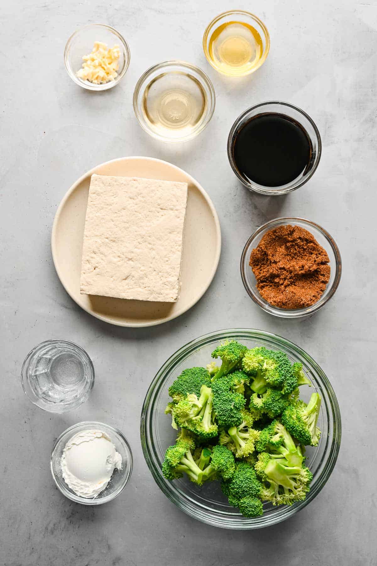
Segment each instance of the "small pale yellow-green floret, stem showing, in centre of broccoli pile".
M232 426L228 432L220 432L220 444L231 450L236 458L246 458L255 451L255 443L260 432L252 428L253 417L249 411L241 410L242 422L239 426Z

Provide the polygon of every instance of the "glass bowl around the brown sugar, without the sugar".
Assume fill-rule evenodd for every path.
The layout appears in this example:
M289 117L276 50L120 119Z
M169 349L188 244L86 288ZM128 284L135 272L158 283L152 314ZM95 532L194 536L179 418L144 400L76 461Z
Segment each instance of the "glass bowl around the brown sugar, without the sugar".
M319 299L319 301L317 301L317 303L311 305L311 307L296 308L291 310L270 305L270 303L265 301L265 299L263 299L259 294L259 291L257 289L257 280L255 279L253 270L249 265L250 254L252 250L258 246L258 243L261 241L263 235L265 235L268 230L272 230L273 228L287 224L291 224L292 226L301 226L301 228L305 228L305 230L313 234L317 242L327 251L328 257L330 259L330 281L328 282L322 297ZM276 218L275 220L270 220L270 222L263 224L263 226L258 228L258 230L255 230L254 234L252 234L246 242L244 250L242 251L241 278L246 291L248 291L248 294L253 299L254 303L257 303L259 307L263 308L263 310L269 312L271 315L280 316L281 318L301 318L302 316L311 315L314 312L317 312L319 308L323 307L323 305L325 305L335 293L337 286L339 285L340 276L341 258L339 248L337 247L334 239L326 230L324 230L324 228L321 228L321 226L315 224L315 222L305 220L305 218L292 217Z

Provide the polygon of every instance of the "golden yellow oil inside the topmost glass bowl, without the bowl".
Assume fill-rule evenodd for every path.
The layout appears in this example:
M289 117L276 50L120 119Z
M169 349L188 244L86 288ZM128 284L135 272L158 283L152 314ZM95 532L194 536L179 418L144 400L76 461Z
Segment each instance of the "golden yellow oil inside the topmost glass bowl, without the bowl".
M226 75L244 75L258 66L263 42L258 31L246 22L226 22L210 37L209 54Z

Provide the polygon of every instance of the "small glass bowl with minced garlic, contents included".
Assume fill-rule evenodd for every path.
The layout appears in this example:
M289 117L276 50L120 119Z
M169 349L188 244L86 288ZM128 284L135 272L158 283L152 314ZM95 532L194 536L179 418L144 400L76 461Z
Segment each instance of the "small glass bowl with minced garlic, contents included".
M118 84L127 71L129 48L114 28L89 24L68 39L64 62L68 75L80 87L103 91Z

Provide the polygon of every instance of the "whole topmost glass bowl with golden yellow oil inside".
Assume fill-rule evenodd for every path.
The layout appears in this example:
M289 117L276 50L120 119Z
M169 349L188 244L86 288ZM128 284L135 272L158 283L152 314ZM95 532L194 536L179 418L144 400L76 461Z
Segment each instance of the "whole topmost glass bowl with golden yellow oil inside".
M203 35L203 50L216 71L229 76L249 75L266 61L270 35L254 14L230 10L216 16Z

